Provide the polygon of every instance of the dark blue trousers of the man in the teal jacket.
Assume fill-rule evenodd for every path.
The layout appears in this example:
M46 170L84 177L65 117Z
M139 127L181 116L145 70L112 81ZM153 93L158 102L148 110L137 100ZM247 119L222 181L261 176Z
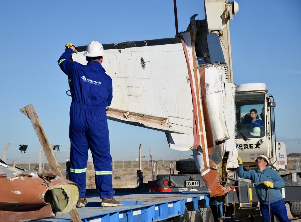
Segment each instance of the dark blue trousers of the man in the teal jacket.
M268 213L268 204L260 204L260 211L264 222L270 221L269 216L271 218L271 222L274 222L274 216L276 216L280 222L290 221L287 217L287 211L283 199L270 204L271 215Z

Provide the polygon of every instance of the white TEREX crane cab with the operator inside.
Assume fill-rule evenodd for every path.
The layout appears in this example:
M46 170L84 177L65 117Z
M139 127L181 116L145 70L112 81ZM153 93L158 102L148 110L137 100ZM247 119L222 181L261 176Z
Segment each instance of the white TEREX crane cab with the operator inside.
M277 169L286 169L285 144L275 139L276 103L266 85L237 85L235 106L235 144L244 166L256 167L257 156L265 155Z

